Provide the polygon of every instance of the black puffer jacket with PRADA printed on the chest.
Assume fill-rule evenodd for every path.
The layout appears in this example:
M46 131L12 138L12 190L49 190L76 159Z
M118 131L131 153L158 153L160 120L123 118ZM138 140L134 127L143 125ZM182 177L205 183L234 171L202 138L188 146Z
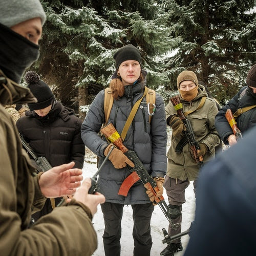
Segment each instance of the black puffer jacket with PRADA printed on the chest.
M16 125L20 134L38 156L44 156L52 166L75 162L83 167L85 146L81 139L82 121L60 102L56 102L45 117L27 111Z

